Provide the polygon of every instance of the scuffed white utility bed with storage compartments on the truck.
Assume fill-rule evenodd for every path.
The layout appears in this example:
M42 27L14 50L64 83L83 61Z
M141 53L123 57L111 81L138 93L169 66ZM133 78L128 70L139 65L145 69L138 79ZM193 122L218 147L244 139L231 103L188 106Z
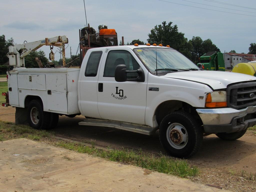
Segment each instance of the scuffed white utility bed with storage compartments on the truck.
M38 96L44 111L80 113L78 108L78 68L18 68L7 72L10 105L24 108L26 97ZM33 96L31 96L33 95Z

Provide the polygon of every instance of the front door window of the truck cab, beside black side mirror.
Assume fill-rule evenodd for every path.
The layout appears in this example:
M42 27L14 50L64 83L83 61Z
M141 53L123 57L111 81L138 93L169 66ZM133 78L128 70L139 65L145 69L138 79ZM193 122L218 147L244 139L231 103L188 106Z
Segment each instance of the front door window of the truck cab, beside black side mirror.
M128 51L110 51L106 60L105 69L104 69L104 77L114 77L115 76L115 68L118 65L126 65L127 70L137 70L140 68L137 61L133 58L133 56ZM136 78L138 74L127 73L128 79Z

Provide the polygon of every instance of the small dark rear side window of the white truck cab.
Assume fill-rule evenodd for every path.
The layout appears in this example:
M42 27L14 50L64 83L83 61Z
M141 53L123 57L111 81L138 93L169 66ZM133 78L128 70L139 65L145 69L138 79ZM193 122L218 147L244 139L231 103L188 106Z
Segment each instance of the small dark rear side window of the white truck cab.
M91 52L91 55L88 59L86 69L85 69L84 75L86 77L96 77L101 55L102 55L102 51Z

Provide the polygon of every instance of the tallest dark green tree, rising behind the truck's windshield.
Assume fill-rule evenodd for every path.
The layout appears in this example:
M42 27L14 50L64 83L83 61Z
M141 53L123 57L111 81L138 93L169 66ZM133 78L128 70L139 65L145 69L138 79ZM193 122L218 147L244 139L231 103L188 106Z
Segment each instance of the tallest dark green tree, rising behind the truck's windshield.
M184 37L184 33L178 31L178 26L172 26L172 24L172 22L167 24L166 21L164 21L162 22L162 25L156 25L151 29L150 34L148 34L147 41L150 44L156 43L157 45L162 44L163 46L170 45L170 47L176 49L190 59L191 43Z

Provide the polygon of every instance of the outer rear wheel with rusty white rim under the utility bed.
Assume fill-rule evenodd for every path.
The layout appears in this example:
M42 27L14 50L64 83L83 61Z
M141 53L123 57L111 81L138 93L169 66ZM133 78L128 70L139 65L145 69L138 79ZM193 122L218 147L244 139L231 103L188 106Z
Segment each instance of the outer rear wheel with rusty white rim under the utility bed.
M49 112L43 110L39 100L32 100L28 104L28 123L34 129L47 129Z

